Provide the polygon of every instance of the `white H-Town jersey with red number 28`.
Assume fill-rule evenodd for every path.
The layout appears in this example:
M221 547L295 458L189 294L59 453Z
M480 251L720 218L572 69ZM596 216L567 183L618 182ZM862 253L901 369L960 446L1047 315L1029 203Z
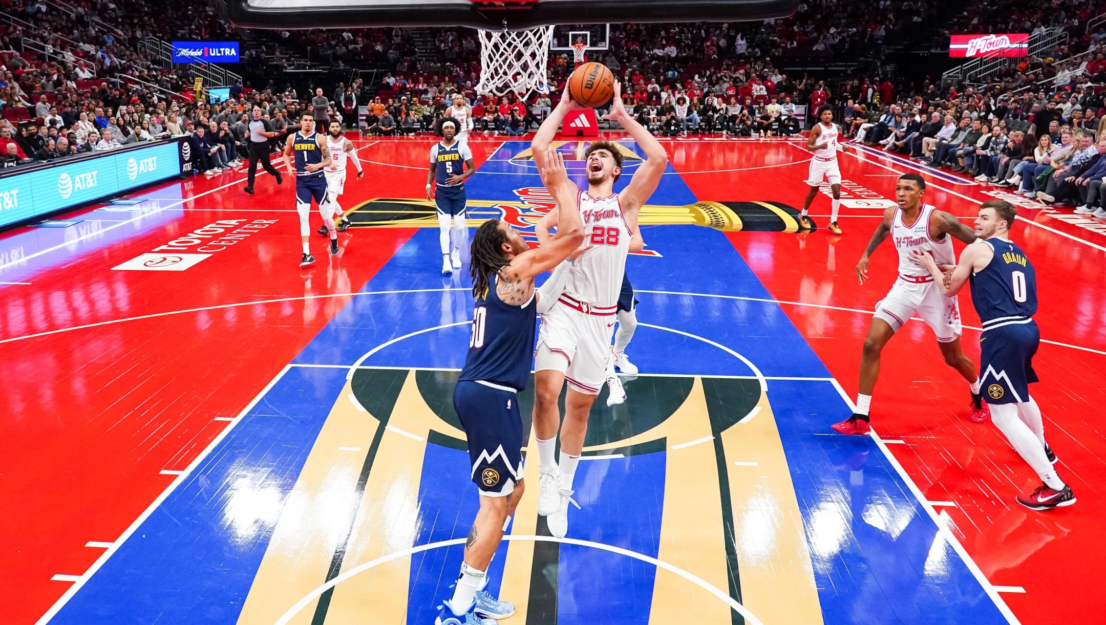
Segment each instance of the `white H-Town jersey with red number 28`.
M595 199L581 191L577 204L584 220L584 242L593 248L573 261L564 294L577 302L613 309L622 292L633 232L623 218L617 194Z

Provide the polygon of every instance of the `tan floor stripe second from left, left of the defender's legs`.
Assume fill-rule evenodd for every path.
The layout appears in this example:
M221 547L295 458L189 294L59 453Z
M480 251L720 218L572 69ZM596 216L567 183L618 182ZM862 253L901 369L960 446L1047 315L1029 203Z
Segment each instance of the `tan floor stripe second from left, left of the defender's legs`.
M415 544L419 532L418 489L426 438L432 428L465 440L465 433L442 421L427 406L415 375L415 371L407 373L388 425L422 440L393 429L385 430L365 485L342 571ZM377 623L405 622L409 582L410 556L382 564L372 575L351 577L334 587L326 625L359 624L365 622L366 615L372 615L372 621Z

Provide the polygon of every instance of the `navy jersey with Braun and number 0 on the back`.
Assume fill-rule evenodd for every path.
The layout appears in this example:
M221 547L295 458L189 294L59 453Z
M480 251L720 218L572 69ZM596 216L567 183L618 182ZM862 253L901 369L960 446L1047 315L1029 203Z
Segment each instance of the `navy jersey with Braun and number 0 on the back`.
M999 238L987 239L994 257L968 278L971 301L984 323L1036 314L1036 271L1021 248Z

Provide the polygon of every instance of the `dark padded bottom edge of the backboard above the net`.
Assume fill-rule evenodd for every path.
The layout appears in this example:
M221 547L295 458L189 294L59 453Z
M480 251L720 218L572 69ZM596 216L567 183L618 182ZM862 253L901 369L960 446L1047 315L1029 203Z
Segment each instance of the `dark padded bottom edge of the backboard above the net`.
M268 29L469 27L586 22L739 22L783 18L799 0L212 0L236 25ZM572 42L566 43L570 45Z

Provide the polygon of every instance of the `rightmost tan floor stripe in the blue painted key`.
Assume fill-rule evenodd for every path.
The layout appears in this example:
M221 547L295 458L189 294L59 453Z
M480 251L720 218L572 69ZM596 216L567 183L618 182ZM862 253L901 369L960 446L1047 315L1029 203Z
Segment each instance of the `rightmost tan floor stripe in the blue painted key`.
M803 515L766 394L758 406L757 418L722 433L741 603L764 623L822 625Z

